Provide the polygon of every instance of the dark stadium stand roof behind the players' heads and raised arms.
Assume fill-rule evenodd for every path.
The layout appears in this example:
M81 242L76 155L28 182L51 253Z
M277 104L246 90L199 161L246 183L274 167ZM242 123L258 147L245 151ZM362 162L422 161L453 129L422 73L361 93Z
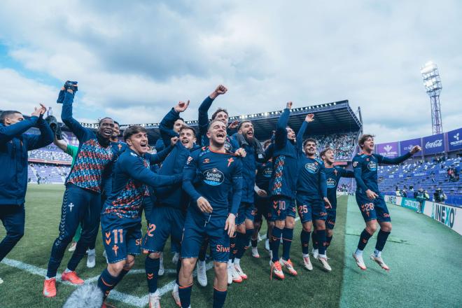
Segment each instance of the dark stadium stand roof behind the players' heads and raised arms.
M255 137L259 140L265 140L271 136L272 131L276 128L276 122L281 113L282 111L264 111L262 113L232 116L230 117L230 122L234 120L251 120L255 128ZM295 132L298 132L307 113L315 114L315 121L309 125L307 135L357 132L363 126L360 118L350 108L348 100L291 109L288 125ZM97 128L97 123L81 124L90 129ZM186 124L197 129L197 120L186 120ZM120 129L124 130L129 125L131 124L120 125ZM148 130L148 137L151 144L160 138L159 123L144 123L140 125L146 127L146 130ZM69 130L65 125L62 128L66 131Z

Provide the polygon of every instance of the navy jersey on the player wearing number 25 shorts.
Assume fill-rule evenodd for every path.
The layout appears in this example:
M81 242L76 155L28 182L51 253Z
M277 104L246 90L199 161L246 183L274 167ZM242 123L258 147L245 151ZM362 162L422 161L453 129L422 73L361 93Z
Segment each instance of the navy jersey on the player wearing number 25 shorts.
M317 158L300 158L300 174L297 182L297 195L307 195L313 199L327 197L324 163Z

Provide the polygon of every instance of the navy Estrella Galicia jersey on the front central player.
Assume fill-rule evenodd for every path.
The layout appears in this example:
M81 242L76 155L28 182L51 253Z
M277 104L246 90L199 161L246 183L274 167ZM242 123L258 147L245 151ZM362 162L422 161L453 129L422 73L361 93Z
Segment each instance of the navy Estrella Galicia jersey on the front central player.
M198 177L195 181L196 176ZM183 189L191 197L188 211L204 219L223 219L228 213L236 214L241 202L242 163L231 153L216 153L203 147L191 153L183 169ZM228 207L228 195L233 192ZM204 197L214 209L211 214L202 213L197 199Z

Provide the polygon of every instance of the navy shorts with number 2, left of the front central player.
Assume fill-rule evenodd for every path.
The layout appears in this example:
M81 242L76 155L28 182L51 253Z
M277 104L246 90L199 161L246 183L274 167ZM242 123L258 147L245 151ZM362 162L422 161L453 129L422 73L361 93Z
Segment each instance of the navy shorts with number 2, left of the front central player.
M179 245L183 236L184 225L185 214L181 209L154 207L141 248L160 253L164 251L169 236L172 237L172 243Z

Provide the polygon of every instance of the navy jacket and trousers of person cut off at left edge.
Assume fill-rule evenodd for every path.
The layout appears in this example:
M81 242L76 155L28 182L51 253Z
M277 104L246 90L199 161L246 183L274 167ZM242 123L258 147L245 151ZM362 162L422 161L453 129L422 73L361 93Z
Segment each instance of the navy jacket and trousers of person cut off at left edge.
M25 134L38 127L39 135ZM43 117L32 116L13 125L0 124L0 220L6 237L0 243L0 261L24 235L27 190L27 151L48 146L53 132Z

